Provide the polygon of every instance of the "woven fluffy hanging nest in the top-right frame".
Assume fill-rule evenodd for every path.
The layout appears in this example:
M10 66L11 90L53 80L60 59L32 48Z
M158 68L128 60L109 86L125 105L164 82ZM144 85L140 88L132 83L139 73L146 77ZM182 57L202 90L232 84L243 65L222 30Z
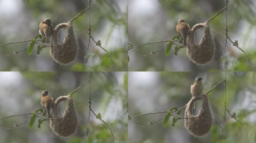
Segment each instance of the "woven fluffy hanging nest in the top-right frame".
M197 29L203 28L204 34L198 45L194 42L194 36ZM211 38L211 31L207 22L199 23L193 26L188 34L187 55L195 64L206 64L213 59L215 46Z

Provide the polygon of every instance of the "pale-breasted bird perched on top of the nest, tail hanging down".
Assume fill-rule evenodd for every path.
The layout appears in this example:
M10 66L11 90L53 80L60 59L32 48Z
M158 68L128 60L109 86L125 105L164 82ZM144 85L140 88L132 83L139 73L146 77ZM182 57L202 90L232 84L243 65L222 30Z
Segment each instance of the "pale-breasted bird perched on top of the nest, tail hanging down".
M202 93L202 90L204 89L202 79L202 77L196 77L195 82L191 85L190 92L192 97L200 95ZM195 109L195 103L192 109Z

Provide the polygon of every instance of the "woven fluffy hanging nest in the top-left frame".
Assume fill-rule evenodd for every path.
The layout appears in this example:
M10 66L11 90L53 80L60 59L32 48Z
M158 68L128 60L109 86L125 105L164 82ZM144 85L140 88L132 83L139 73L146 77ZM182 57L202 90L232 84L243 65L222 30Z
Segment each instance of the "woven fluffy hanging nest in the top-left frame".
M63 44L58 43L58 33L60 29L67 28ZM61 23L52 32L50 54L59 64L68 64L76 58L77 43L74 36L72 23Z

